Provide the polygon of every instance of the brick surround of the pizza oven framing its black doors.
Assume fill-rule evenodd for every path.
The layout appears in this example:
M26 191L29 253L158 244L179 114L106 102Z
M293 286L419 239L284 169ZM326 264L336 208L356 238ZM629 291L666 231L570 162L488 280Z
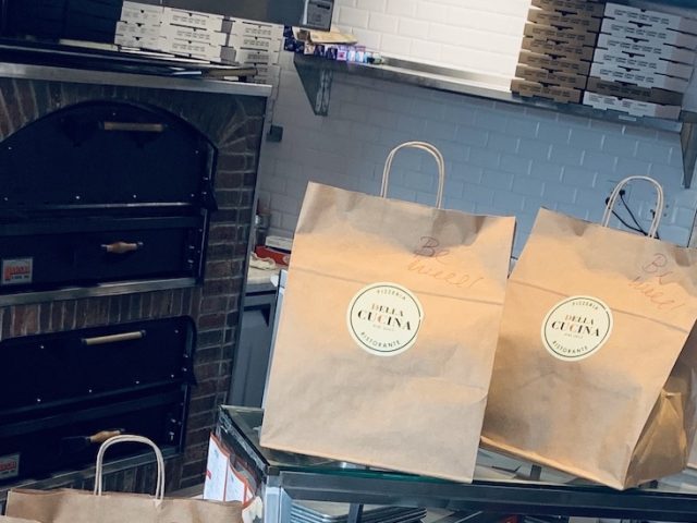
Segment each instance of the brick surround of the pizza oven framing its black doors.
M209 222L198 229L204 242L197 258L198 272L136 281L117 277L117 281L107 284L89 280L49 284L29 292L0 287L0 348L10 340L37 335L112 328L157 318L192 318L196 331L193 365L196 384L187 398L182 447L168 457L167 488L198 484L205 473L208 436L217 406L224 403L230 389L268 87L7 63L1 64L0 76L0 148L15 133L56 111L113 102L159 111L181 121L203 135L213 150L208 158L211 175L206 180L213 186L217 205L208 206ZM36 150L41 148L37 146ZM0 177L7 186L17 174L2 172ZM68 188L75 194L82 190ZM47 211L42 212L46 219ZM200 219L203 215L192 216ZM189 259L186 270L195 265ZM0 439L0 455L1 447ZM107 484L112 488L147 489L151 466L148 457L126 459L111 469ZM60 485L85 487L90 481L88 471L88 466L73 474L68 471ZM12 485L3 482L0 491Z

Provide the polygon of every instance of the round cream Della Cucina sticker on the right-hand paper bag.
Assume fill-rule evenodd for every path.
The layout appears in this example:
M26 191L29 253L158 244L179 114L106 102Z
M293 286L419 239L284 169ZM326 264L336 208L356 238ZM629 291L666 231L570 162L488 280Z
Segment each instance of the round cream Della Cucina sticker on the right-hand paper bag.
M542 321L542 344L552 356L566 362L590 356L611 333L612 311L591 296L562 300Z

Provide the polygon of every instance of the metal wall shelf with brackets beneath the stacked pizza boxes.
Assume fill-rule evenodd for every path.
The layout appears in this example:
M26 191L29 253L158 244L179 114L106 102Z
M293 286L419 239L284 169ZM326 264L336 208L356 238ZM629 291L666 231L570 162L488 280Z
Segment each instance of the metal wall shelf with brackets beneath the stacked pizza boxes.
M334 73L358 75L414 85L444 93L486 98L504 104L545 109L565 114L592 118L628 125L681 133L684 175L683 185L689 187L697 162L697 113L683 111L680 120L665 120L650 117L634 117L620 111L603 111L580 104L558 104L538 98L523 98L510 90L510 80L456 69L439 68L420 62L386 59L381 65L338 62L319 57L295 54L293 63L303 83L305 94L317 115L329 114L331 86Z

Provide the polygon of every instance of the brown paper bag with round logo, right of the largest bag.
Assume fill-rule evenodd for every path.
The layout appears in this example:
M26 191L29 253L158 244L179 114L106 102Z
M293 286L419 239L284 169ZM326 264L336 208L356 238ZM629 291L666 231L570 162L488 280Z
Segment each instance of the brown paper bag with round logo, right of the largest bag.
M625 183L649 236L608 229ZM614 488L682 471L695 434L697 252L656 240L662 190L603 226L540 210L509 280L486 446Z

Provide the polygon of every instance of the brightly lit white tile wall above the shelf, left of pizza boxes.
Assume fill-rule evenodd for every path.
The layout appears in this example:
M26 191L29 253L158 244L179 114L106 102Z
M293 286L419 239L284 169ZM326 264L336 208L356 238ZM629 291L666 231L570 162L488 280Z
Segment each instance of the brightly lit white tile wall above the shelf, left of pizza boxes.
M334 23L370 49L511 77L530 0L337 0Z

